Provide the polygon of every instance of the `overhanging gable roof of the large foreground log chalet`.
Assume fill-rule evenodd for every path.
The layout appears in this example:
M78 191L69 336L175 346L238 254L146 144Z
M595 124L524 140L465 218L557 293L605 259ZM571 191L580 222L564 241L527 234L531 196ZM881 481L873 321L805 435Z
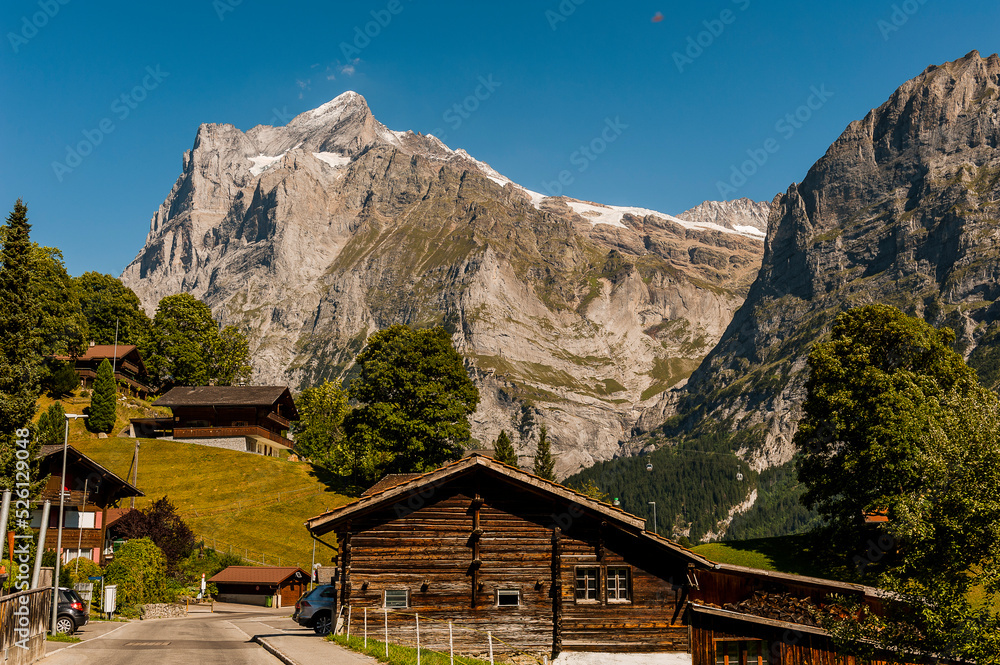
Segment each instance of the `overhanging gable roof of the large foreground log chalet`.
M452 462L439 469L412 478L408 478L406 474L400 474L398 483L389 486L383 485L384 489L381 491L374 491L347 505L310 518L306 520L305 526L315 535L330 533L352 519L391 506L401 498L411 496L414 492L425 491L427 488L437 487L450 480L477 471L505 479L511 484L518 485L525 490L568 502L585 512L589 511L594 515L600 516L602 519L607 520L609 524L614 524L624 531L638 536L640 539L650 541L654 546L680 554L690 562L701 567L708 568L714 565L701 555L695 554L691 550L681 547L667 538L646 531L646 520L640 517L636 517L621 508L616 508L593 499L586 494L571 490L559 483L545 480L521 469L498 462L492 457L483 455L472 455L471 457L463 458L457 462ZM381 485L389 478L384 478L379 484ZM378 486L373 487L372 490L377 488Z

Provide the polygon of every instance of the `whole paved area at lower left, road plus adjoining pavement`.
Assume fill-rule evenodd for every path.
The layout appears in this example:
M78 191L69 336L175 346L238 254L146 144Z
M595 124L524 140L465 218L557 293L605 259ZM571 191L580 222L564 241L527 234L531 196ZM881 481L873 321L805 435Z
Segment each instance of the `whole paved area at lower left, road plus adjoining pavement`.
M43 665L372 665L289 618L289 609L216 603L186 618L118 624L81 631L83 642L50 652ZM91 624L98 626L100 624ZM266 643L268 649L260 643ZM56 643L50 643L55 646ZM63 645L59 645L63 646ZM281 656L279 659L273 653Z

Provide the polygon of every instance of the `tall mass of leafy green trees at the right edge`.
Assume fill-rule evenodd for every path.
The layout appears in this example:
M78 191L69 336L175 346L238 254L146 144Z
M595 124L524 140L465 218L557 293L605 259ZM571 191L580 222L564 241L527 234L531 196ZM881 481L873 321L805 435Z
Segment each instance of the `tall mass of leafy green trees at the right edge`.
M996 630L992 603L975 608L968 592L982 583L995 598L1000 581L1000 398L954 340L886 305L841 314L809 355L794 441L803 500L845 557L874 559L862 554L875 535L863 515L888 517L879 547L889 551L865 568L907 602L841 633L996 662L976 646Z

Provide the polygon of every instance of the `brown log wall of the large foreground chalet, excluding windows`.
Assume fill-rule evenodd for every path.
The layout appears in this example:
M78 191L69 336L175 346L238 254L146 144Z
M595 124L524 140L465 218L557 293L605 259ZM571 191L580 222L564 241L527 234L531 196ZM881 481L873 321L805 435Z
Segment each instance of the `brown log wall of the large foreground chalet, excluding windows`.
M669 553L650 552L635 536L603 528L573 506L513 492L489 478L453 480L367 517L343 539L345 603L351 633L421 645L448 645L454 622L456 649L485 652L486 631L497 653L511 647L535 654L566 651L688 651L681 622L686 564ZM602 569L601 601L577 603L576 567ZM607 566L631 570L631 600L606 602ZM406 589L409 607L383 612L386 590ZM517 607L498 607L498 590L516 590Z

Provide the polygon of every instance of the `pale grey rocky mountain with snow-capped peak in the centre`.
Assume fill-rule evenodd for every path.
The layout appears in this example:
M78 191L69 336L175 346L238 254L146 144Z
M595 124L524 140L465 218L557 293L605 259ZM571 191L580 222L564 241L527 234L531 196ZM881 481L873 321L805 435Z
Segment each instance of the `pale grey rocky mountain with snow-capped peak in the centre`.
M372 332L443 324L481 390L474 436L531 412L562 477L619 453L716 344L766 206L545 197L345 93L284 127L203 125L122 280L150 313L188 292L246 330L261 383L343 377Z

